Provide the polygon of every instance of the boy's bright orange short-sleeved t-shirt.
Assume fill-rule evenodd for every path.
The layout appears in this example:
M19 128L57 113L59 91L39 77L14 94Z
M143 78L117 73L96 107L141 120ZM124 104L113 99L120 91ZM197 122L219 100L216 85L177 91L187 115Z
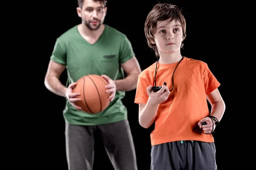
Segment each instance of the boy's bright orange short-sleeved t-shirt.
M157 86L166 82L169 90L172 89L172 74L177 63L157 63ZM155 85L155 69L156 62L139 75L135 103L147 103L147 87ZM155 127L150 135L151 145L180 140L214 142L211 134L192 129L198 126L201 119L209 116L206 95L219 85L205 62L184 57L175 70L171 94L158 107Z

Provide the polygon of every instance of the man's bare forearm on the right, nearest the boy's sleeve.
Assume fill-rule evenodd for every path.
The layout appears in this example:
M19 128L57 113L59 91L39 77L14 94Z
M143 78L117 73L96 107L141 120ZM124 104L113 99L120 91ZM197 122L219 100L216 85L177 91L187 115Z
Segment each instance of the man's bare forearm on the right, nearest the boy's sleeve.
M114 80L116 91L131 91L137 88L138 74L130 74L125 79Z

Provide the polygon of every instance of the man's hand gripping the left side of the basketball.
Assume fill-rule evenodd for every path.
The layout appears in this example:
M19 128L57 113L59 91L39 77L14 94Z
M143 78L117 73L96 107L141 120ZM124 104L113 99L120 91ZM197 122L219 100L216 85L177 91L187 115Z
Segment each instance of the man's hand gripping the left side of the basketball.
M81 101L80 98L76 98L77 96L80 96L80 93L73 93L73 88L76 86L76 82L71 83L68 87L67 87L67 91L65 93L65 96L67 98L67 100L70 102L70 104L76 108L77 110L81 111L82 108L79 107L78 105L76 105L77 101Z

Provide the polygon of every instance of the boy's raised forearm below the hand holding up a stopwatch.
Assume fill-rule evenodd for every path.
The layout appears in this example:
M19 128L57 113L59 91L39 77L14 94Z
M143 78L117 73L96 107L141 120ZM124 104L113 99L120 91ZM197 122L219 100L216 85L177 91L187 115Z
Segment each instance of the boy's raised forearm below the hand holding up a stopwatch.
M139 113L139 123L142 127L148 128L152 125L157 114L158 106L159 104L155 104L151 99L148 99L145 107Z

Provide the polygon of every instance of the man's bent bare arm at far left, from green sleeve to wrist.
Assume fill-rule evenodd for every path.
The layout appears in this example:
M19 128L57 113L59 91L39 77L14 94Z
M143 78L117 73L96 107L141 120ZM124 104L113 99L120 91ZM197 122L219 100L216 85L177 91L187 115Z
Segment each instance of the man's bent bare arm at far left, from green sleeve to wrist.
M59 78L65 68L65 65L50 60L44 79L44 85L49 91L63 97L65 97L67 88L62 85Z

